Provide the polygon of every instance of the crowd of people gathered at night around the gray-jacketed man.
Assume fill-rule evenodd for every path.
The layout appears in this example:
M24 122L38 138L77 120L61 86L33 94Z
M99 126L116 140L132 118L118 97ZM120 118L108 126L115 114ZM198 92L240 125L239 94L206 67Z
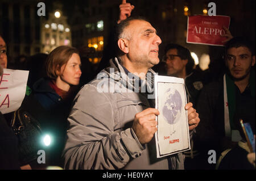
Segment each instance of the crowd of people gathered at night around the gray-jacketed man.
M255 153L250 153L240 125L240 119L250 123L255 135L254 44L233 37L225 28L227 40L220 57L224 66L217 76L196 68L189 49L174 43L166 46L160 62L159 45L164 40L150 22L130 17L134 8L125 0L119 6L114 37L97 70L69 46L48 55L17 58L17 69L30 71L19 112L28 112L40 130L52 132L55 139L46 151L46 163L38 162L37 150L25 151L35 157L23 159L21 140L10 127L19 112L0 112L0 169L255 169ZM2 75L9 67L1 35L0 50ZM134 91L129 73L146 92ZM184 79L190 151L156 158L159 110L148 98L154 78L146 77L155 73ZM117 89L118 83L124 91L99 91L104 78L109 89ZM28 141L35 145L35 139ZM209 150L216 151L217 165L208 162Z

